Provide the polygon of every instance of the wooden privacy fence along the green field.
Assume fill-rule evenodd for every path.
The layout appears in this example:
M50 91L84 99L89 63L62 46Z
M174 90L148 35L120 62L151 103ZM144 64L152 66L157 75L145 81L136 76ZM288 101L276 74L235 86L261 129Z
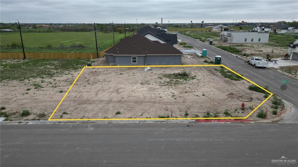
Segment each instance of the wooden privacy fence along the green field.
M111 47L109 47L111 48ZM101 51L99 57L105 56L104 52L109 48ZM25 53L26 59L96 59L96 53ZM23 53L0 53L0 59L22 59Z

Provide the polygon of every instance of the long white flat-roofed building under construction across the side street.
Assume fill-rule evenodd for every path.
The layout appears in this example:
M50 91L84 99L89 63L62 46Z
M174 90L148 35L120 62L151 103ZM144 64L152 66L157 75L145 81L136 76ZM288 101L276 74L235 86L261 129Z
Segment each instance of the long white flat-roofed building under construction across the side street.
M220 42L226 43L268 43L269 33L223 31Z

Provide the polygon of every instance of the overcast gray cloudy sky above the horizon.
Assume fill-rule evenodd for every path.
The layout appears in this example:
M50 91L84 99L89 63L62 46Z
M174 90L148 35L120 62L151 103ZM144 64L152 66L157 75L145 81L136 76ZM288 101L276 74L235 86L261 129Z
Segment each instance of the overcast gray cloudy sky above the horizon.
M298 20L298 1L3 1L4 23L205 23Z

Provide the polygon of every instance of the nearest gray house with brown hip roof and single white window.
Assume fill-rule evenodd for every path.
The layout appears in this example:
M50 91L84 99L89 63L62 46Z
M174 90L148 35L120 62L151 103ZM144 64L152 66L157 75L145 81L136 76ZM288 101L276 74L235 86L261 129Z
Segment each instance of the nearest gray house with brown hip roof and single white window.
M126 37L105 52L110 65L181 65L183 53L163 40L142 34Z

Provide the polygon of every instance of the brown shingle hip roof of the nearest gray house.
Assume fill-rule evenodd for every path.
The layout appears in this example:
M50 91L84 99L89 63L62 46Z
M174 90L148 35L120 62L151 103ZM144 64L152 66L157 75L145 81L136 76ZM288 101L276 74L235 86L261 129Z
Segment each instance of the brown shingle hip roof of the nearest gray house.
M182 55L183 53L168 43L151 41L136 34L121 40L105 52L114 55Z

